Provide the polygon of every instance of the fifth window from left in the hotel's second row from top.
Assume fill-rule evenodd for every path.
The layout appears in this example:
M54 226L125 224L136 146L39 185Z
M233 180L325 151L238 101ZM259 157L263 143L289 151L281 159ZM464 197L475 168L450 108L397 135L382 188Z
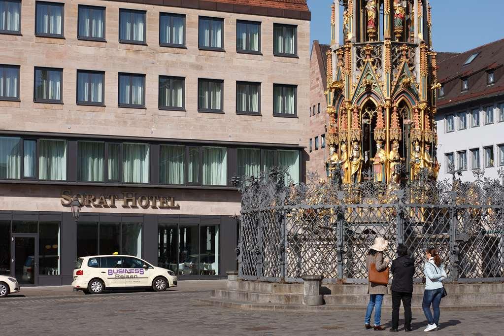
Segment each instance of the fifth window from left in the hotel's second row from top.
M185 78L159 76L159 109L185 108Z

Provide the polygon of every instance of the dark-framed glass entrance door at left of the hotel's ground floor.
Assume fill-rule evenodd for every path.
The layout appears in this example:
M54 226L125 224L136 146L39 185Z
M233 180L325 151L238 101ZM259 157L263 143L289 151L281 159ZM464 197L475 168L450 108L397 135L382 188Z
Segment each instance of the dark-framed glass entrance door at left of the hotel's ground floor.
M20 285L36 285L38 274L38 240L36 235L13 234L11 242L12 275Z

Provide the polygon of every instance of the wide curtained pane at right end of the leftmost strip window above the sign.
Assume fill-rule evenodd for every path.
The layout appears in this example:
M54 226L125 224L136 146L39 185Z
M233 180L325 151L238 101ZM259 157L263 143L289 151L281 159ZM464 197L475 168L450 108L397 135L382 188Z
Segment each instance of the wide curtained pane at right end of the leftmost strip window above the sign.
M65 140L38 141L38 176L41 180L67 179L67 142Z

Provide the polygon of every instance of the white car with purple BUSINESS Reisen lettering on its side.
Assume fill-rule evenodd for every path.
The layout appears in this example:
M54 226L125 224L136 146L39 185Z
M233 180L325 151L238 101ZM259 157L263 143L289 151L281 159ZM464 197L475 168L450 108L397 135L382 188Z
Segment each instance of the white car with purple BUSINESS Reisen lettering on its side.
M177 286L177 277L173 271L135 256L95 255L76 261L72 286L85 294L99 294L112 288L152 288L161 292Z

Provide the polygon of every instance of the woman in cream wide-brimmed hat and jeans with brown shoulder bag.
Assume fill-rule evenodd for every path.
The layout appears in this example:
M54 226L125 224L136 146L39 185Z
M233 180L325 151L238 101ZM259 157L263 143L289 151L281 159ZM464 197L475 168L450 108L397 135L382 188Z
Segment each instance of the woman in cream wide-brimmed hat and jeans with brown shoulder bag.
M389 242L382 237L376 237L374 244L369 247L367 253L366 265L367 274L374 263L376 271L385 271L389 262L384 259L383 252L389 248ZM364 318L364 327L366 329L385 330L381 325L382 302L385 294L389 294L387 285L373 284L369 282L367 294L369 294L369 303L367 304L366 316ZM374 325L371 326L371 314L374 309Z

